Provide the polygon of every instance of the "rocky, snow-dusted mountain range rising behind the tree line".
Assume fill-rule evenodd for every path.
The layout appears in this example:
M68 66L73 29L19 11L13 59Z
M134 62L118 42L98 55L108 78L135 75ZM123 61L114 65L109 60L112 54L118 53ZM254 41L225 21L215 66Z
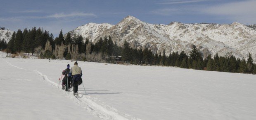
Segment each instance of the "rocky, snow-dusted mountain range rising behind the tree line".
M189 53L194 44L203 52L220 56L233 54L247 59L251 52L256 59L256 30L254 25L232 24L149 24L127 16L116 25L88 23L70 31L81 34L95 43L100 37L110 35L114 42L123 45L128 41L133 48L150 48L153 52L167 53L184 50ZM96 41L95 41L96 40Z

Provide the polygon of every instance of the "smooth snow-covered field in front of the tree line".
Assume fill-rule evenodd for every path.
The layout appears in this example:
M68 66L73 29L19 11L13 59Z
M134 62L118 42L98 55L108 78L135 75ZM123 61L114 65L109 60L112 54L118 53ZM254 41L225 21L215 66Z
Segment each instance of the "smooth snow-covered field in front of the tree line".
M256 120L256 75L78 61L77 99L58 88L73 62L5 56L0 120Z

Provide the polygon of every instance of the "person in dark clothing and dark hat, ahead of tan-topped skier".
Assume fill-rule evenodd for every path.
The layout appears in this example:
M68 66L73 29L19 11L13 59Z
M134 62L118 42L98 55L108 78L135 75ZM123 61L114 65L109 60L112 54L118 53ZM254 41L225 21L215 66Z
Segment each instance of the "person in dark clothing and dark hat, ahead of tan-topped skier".
M70 87L70 81L71 81L71 76L68 76L70 72L69 69L69 64L66 66L66 70L62 71L62 75L64 75L64 78L62 79L62 90L65 89L65 91L69 91Z

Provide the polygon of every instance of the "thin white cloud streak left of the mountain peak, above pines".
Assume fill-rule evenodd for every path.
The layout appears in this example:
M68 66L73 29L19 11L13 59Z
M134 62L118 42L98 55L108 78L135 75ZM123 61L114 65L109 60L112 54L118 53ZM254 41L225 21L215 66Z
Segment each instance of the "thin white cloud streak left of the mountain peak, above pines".
M88 16L96 17L95 14L91 14L91 13L75 12L71 14L64 14L64 13L53 14L50 16L45 16L45 18L72 18L72 17L88 17Z

